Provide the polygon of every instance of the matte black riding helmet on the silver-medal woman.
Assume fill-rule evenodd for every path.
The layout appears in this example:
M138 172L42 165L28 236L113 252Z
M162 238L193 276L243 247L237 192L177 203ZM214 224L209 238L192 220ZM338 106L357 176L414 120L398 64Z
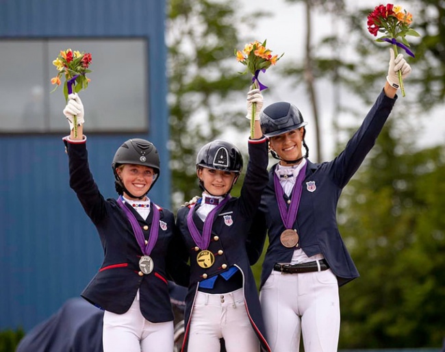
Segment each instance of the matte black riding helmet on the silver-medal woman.
M148 140L133 138L125 141L114 154L112 168L116 192L118 192L119 195L122 195L125 191L133 198L142 199L145 197L145 194L149 192L149 190L147 190L147 193L145 193L142 197L133 196L133 194L131 194L127 188L125 188L122 180L116 173L116 168L122 164L135 164L153 168L155 175L153 176L153 183L149 188L149 190L151 190L160 175L160 159L156 147Z

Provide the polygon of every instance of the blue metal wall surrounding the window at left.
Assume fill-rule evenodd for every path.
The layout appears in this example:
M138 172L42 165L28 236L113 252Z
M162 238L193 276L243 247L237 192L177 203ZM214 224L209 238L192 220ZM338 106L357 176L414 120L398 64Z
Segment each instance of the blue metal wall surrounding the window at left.
M131 137L159 149L162 177L150 196L170 208L165 11L165 0L0 0L0 40L149 38L150 131ZM101 264L99 237L68 186L61 138L0 136L0 329L27 330L48 318L79 295ZM105 197L115 197L110 164L128 138L88 136L90 165Z

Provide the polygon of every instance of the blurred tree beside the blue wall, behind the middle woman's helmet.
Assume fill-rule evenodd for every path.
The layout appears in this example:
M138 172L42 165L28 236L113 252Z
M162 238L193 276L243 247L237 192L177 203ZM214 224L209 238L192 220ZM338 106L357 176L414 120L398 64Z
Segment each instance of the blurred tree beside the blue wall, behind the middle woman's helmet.
M240 130L249 136L249 123L242 118L246 112L240 107L250 78L238 73L243 67L233 51L244 46L239 24L253 28L251 18L262 13L243 18L239 8L232 0L169 1L169 149L175 208L200 193L195 160L203 144Z

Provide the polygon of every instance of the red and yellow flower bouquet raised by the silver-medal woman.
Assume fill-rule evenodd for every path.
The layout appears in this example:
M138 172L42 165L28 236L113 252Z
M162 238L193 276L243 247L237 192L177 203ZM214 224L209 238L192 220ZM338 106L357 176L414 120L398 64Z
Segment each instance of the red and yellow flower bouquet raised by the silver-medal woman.
M60 51L58 57L53 61L53 65L58 69L58 74L51 78L51 84L56 84L51 91L54 92L62 83L60 78L65 77L66 84L64 84L65 101L68 102L68 95L74 92L79 92L81 89L86 89L90 79L86 77L91 70L88 67L91 64L91 54L79 51L72 51L67 49ZM74 136L77 137L77 121L74 116Z

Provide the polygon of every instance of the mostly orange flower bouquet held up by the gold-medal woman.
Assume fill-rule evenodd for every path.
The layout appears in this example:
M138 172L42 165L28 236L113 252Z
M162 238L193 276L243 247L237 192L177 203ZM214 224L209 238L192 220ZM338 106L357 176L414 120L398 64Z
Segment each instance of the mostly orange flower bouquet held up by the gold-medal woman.
M255 40L255 42L250 42L244 45L244 49L242 49L242 51L235 49L235 55L236 60L246 66L246 70L242 72L242 74L249 72L252 75L251 90L264 90L268 87L264 86L264 84L259 81L259 72L261 71L265 73L270 65L275 65L277 61L281 59L284 53L282 53L280 56L272 55L272 51L270 49L266 49L266 40L264 40L262 43ZM256 103L252 104L251 138L253 138L255 126L256 105Z

